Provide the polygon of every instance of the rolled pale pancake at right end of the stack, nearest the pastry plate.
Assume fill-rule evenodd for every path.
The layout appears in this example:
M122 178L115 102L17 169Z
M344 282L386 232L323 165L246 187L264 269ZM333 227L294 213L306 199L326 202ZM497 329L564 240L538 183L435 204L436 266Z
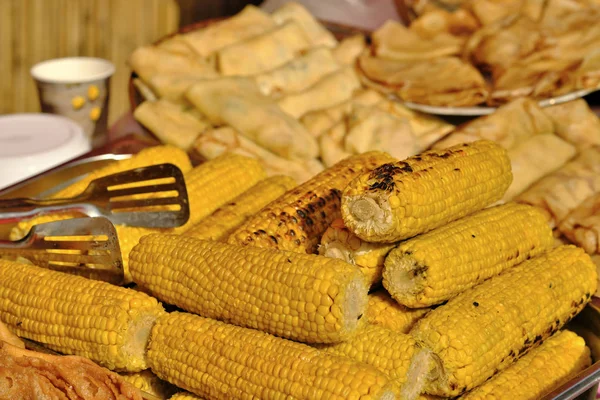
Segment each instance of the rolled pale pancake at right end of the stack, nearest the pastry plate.
M344 67L332 72L308 89L290 94L278 100L283 111L300 118L302 115L342 103L360 88L360 80L354 68Z

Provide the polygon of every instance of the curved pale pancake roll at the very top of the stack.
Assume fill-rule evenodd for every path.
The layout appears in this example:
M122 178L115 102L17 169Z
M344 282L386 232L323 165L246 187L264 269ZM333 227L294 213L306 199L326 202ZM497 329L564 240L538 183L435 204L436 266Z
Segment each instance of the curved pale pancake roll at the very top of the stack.
M301 4L293 1L285 3L273 11L271 16L278 24L284 24L288 21L298 23L313 46L335 47L337 45L335 36Z

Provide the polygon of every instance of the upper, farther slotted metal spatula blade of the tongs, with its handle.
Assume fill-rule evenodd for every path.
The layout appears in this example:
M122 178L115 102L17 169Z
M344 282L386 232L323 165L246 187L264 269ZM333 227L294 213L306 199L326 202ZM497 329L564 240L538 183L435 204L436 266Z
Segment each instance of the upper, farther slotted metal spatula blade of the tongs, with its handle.
M95 179L83 193L68 199L0 200L0 224L59 211L150 228L181 226L190 216L183 173L173 164L160 164Z

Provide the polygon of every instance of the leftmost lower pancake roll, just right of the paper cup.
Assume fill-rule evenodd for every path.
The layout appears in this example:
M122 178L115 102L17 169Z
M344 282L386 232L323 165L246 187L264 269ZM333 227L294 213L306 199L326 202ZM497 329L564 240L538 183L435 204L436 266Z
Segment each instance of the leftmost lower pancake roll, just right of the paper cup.
M211 127L194 108L164 99L143 102L135 109L133 116L162 143L186 151L202 132Z

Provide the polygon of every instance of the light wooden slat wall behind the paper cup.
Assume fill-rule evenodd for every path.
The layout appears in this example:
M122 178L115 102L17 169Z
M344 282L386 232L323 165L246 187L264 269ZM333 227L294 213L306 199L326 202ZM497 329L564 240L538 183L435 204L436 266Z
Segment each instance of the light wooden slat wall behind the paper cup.
M110 123L129 109L129 54L178 26L175 0L0 0L0 114L39 111L35 63L92 56L117 66Z

